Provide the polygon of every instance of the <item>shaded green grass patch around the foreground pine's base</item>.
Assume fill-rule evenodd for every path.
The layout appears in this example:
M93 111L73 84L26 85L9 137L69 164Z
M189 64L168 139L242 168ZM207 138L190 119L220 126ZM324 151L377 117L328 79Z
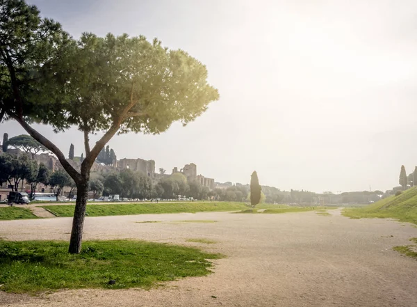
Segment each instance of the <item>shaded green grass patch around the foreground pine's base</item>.
M83 243L79 255L67 242L0 241L0 284L7 292L42 292L78 288L150 288L163 281L204 276L211 271L204 253L185 246L119 241ZM109 285L110 280L115 285Z

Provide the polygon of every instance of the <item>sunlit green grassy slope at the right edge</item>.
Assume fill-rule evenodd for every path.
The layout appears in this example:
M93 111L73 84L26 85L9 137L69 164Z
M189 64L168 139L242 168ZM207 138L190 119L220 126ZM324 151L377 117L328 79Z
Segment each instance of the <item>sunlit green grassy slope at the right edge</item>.
M408 189L399 196L390 196L366 207L345 209L345 217L393 218L417 224L417 187Z

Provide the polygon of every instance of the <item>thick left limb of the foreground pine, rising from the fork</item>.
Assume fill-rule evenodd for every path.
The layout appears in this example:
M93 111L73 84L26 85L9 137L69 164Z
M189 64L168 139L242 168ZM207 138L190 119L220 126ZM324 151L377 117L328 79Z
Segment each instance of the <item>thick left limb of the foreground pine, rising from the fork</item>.
M63 152L61 152L54 143L49 141L49 139L45 138L44 136L42 136L42 134L40 134L35 129L33 129L30 125L28 125L28 123L26 123L23 118L19 118L19 116L13 113L8 113L8 115L12 117L13 119L17 120L17 122L23 127L23 129L25 129L26 132L28 132L28 134L33 137L33 139L35 139L36 141L44 145L46 148L51 150L51 152L53 152L56 155L56 157L58 158L63 168L65 168L65 171L67 171L67 173L72 177L72 179L74 179L75 182L81 181L80 173L77 172L76 169L72 167L70 162L67 162L67 159L65 159Z

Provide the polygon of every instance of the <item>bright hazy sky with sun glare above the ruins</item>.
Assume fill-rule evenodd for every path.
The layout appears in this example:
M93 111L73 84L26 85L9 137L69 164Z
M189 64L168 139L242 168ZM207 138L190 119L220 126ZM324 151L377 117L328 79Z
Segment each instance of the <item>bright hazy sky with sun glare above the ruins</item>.
M117 159L197 164L217 182L386 190L417 165L417 1L30 0L74 38L158 38L208 69L220 100L187 127L115 136ZM81 155L76 129L54 134ZM0 125L9 136L17 123ZM92 143L100 134L92 136Z

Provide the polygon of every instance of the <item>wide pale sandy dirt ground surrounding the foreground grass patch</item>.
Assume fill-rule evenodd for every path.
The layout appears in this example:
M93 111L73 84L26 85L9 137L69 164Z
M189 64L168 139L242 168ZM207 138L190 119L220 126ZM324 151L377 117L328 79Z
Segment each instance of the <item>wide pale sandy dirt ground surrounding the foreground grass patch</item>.
M0 292L0 306L417 306L417 261L392 250L417 237L417 228L330 212L331 217L314 212L88 217L84 239L170 242L227 258L215 260L214 274L150 291L65 290L37 297ZM182 220L216 222L175 222ZM69 218L0 221L0 237L67 240L70 228Z

